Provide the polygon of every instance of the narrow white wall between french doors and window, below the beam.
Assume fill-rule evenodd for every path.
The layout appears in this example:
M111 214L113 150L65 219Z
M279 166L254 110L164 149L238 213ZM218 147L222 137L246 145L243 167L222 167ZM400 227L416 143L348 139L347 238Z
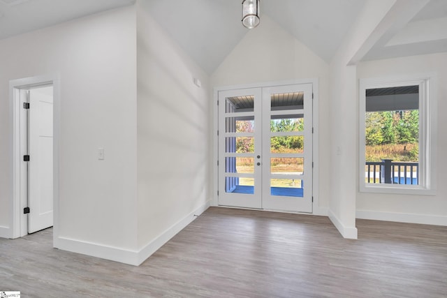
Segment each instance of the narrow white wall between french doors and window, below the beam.
M356 66L332 62L330 69L329 217L343 237L356 239Z

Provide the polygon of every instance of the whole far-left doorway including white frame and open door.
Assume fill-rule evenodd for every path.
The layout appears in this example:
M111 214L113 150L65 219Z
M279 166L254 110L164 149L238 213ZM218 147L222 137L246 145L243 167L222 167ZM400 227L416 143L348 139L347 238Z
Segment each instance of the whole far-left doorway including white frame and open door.
M56 77L10 81L13 118L13 202L10 238L55 226L57 218ZM53 235L53 237L55 237Z

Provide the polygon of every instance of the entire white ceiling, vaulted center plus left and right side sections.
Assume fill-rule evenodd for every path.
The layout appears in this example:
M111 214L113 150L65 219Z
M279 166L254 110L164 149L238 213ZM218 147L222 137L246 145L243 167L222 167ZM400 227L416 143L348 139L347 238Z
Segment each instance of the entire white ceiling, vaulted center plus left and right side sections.
M241 2L142 0L161 27L207 73L247 33L240 22ZM261 0L260 26L267 15L329 63L365 2ZM135 0L0 0L0 39L133 3ZM447 0L428 1L416 15L388 31L362 59L433 52L447 52Z

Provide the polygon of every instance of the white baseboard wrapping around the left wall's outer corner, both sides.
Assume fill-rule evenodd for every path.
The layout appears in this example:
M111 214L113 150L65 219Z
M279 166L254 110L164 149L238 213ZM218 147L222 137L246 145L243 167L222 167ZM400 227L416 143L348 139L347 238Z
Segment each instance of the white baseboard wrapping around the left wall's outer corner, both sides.
M71 251L72 253L82 253L83 255L91 255L96 258L103 258L106 260L112 260L116 262L122 262L124 264L138 266L144 262L150 255L155 253L163 244L166 244L172 237L178 232L183 230L186 225L189 225L191 221L196 219L195 215L200 215L210 207L210 202L205 202L195 211L191 212L180 221L175 223L171 228L160 234L159 237L152 240L145 247L139 251L126 250L123 248L117 248L112 246L105 246L103 244L95 244L86 241L79 241L76 239L69 239L66 237L58 237L57 241L54 241L54 247L64 251Z

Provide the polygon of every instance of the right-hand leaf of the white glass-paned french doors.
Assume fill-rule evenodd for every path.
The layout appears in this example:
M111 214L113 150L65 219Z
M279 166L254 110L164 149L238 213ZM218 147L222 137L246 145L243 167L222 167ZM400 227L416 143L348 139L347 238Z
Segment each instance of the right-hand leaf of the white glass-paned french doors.
M312 84L263 88L263 208L312 213Z

